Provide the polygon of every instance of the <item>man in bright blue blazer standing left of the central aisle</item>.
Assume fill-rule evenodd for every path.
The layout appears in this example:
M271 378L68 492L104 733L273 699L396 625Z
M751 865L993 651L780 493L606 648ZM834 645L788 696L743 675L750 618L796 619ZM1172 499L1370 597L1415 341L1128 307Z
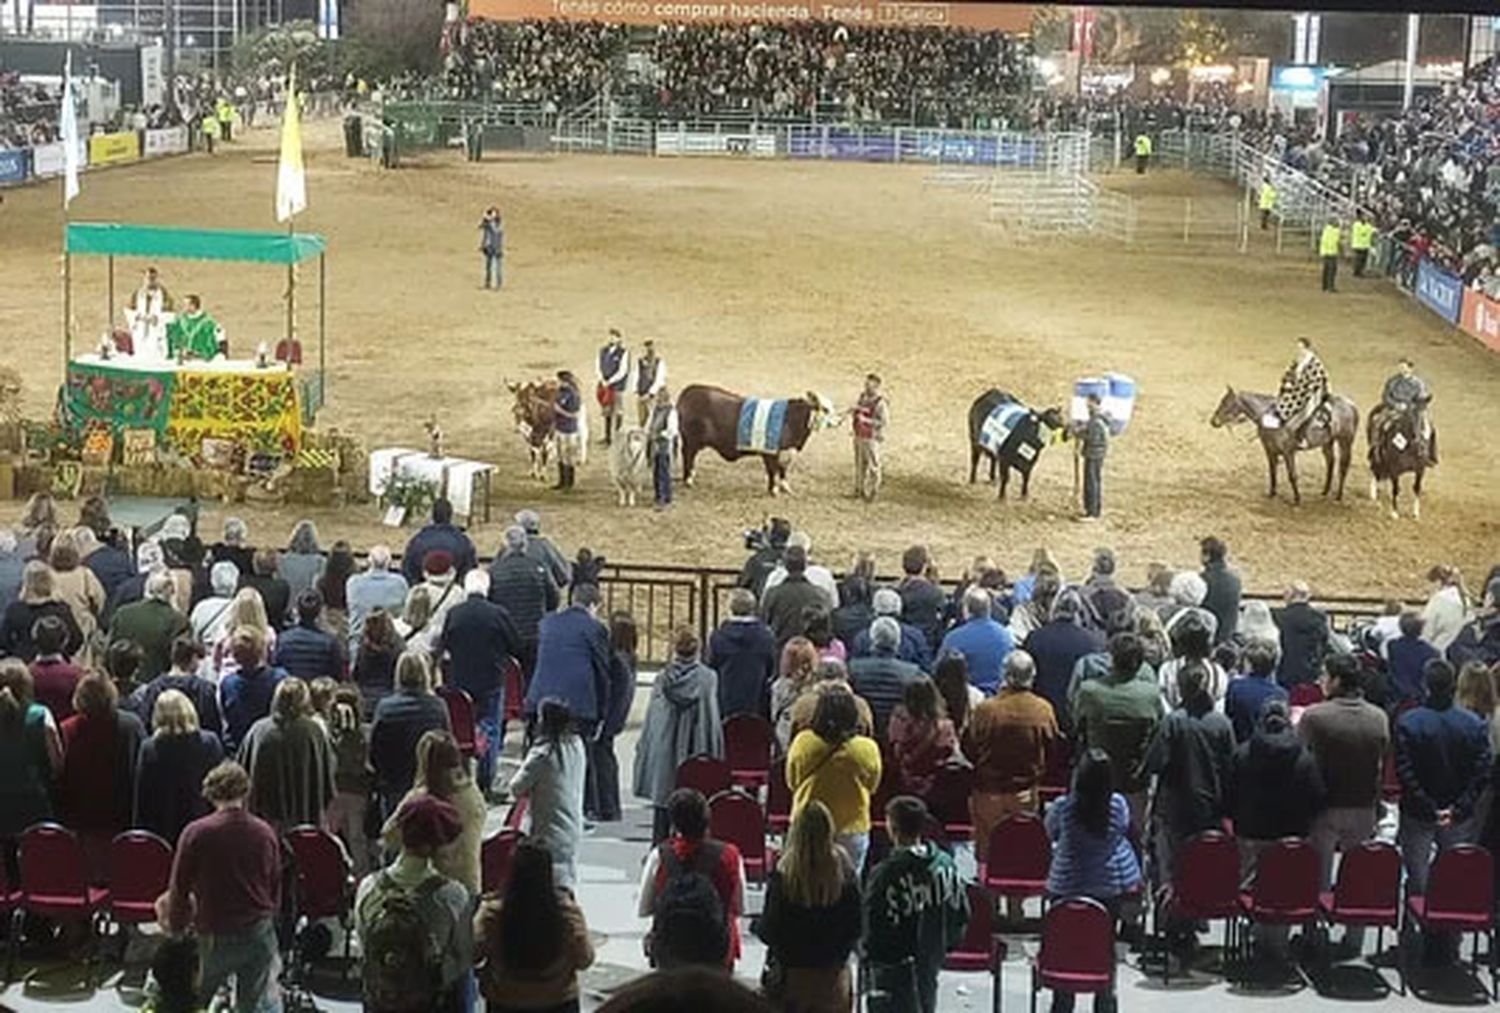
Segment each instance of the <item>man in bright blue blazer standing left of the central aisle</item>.
M609 632L597 612L598 588L578 584L572 605L542 620L537 671L526 687L528 722L549 696L568 705L585 738L609 714Z

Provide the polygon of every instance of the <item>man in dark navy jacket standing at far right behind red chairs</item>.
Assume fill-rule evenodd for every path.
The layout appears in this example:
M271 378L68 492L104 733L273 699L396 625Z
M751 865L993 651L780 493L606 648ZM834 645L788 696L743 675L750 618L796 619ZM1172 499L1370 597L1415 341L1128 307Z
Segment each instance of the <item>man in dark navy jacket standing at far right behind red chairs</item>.
M1454 707L1456 681L1452 665L1428 662L1426 704L1396 720L1396 842L1413 894L1426 893L1434 846L1442 851L1479 836L1474 804L1490 779L1490 729L1468 708Z

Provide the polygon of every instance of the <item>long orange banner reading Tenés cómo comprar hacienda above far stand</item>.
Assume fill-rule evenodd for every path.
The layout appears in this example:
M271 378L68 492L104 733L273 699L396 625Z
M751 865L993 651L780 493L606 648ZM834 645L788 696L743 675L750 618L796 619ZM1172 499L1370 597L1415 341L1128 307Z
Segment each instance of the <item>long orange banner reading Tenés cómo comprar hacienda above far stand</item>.
M750 0L470 0L470 17L490 21L614 21L621 24L716 24L752 21L840 21L870 27L938 26L981 32L1030 32L1028 3L920 3L904 0L834 0L784 3Z

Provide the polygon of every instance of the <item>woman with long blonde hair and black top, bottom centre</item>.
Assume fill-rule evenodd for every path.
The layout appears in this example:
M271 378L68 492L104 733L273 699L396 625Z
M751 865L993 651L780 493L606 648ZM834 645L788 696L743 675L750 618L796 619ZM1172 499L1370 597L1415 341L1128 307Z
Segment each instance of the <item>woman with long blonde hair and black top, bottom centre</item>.
M778 1008L849 1013L849 954L862 927L860 882L834 843L832 815L810 801L792 819L786 851L766 882L765 912L754 923L770 948L765 981Z

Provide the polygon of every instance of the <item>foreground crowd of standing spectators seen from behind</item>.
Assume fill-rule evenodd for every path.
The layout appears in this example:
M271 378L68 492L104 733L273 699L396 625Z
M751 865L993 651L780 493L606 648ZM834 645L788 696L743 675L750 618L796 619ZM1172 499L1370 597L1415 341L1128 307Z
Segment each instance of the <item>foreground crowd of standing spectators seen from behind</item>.
M306 521L284 549L232 518L204 542L172 515L132 546L100 498L64 527L46 495L0 531L0 837L58 819L99 881L126 828L174 845L159 906L174 941L158 960L190 960L176 936L195 929L200 998L231 974L250 998L272 987L278 839L312 825L363 876L372 1008L406 1008L412 981L441 1010L522 986L538 1008L574 1001L592 960L578 848L588 821L621 818L614 741L639 663L632 615L600 612L597 558L570 564L525 510L486 566L446 501L399 557L374 546L364 567ZM1216 539L1197 566L1146 576L1126 590L1098 549L1068 579L1040 549L1014 581L976 558L954 588L912 546L897 581L879 582L867 555L840 581L806 533L772 524L723 627L706 645L675 630L651 687L632 789L656 809L639 894L652 965L732 968L740 954L748 855L708 833L708 801L678 768L723 756L722 722L746 713L774 729L792 798L750 926L782 971L768 989L792 1007L838 1005L862 941L872 974L933 1008L969 897L921 798L954 771L968 771L976 840L1042 815L1048 893L1107 905L1125 939L1138 938L1143 881L1170 882L1184 842L1226 819L1251 870L1270 842L1308 837L1326 887L1336 852L1377 834L1388 756L1414 891L1434 849L1500 843L1500 567L1479 602L1456 567L1434 567L1420 611L1390 603L1350 630L1300 584L1275 612L1246 600ZM512 665L532 737L501 783ZM472 762L456 690L478 719ZM1044 807L1068 756L1071 780L1048 782L1060 797ZM507 798L526 803L526 843L482 902L488 804ZM916 879L927 900L892 903ZM432 900L417 929L400 902L412 891ZM1170 938L1191 959L1194 926ZM1272 956L1286 942L1258 938ZM1449 942L1430 938L1428 959L1449 960ZM438 956L417 975L426 944ZM172 966L160 971L171 987Z

